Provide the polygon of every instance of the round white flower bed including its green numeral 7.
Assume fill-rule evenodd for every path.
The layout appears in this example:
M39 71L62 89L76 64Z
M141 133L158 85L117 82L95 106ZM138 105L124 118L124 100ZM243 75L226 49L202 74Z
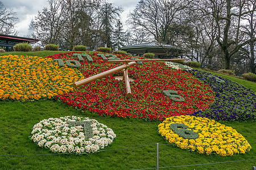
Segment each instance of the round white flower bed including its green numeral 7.
M114 131L88 117L48 118L35 124L31 139L52 152L96 152L113 142Z

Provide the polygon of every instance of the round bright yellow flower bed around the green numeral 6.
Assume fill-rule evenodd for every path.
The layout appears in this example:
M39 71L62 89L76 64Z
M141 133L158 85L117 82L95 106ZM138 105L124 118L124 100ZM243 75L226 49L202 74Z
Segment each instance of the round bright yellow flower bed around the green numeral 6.
M170 124L184 124L188 130L199 134L196 139L185 139L175 134L170 129ZM176 144L185 150L197 151L199 154L218 154L232 156L233 154L245 154L251 146L246 139L229 126L222 125L208 118L195 116L174 116L166 118L158 125L159 133L169 143Z

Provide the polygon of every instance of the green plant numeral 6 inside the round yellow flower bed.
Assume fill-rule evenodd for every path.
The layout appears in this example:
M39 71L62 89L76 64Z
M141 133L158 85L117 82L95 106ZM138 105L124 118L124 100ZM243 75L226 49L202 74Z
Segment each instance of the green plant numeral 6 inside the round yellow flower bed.
M179 129L180 128L180 129ZM188 130L189 128L185 124L170 124L170 129L174 131L177 135L184 139L197 139L199 138L199 134L197 134L195 131Z

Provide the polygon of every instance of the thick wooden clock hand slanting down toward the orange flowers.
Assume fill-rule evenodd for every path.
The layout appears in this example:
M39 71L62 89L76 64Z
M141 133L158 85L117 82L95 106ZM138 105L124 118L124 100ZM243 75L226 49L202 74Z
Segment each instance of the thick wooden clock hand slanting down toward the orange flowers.
M120 71L120 70L123 70L123 69L127 69L128 67L130 66L133 66L135 65L136 62L129 62L128 65L122 65L122 66L119 66L119 67L115 67L114 69L111 69L111 70L108 70L108 71L104 71L103 73L100 73L100 74L97 74L97 75L93 75L93 76L90 76L89 78L86 78L86 79L83 79L83 80L80 80L79 82L76 82L76 83L73 83L72 86L73 87L79 87L79 86L82 86L84 84L87 84L87 83L90 83L94 80L97 80L97 79L100 79L106 75L109 75L109 74L113 74L117 71Z

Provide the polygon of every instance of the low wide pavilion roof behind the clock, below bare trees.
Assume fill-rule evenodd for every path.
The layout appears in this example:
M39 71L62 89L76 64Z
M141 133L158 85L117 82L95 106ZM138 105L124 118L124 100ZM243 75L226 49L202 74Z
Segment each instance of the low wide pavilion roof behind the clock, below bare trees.
M157 44L156 42L146 42L142 44L123 46L121 50L125 50L127 53L133 54L144 54L144 53L154 53L155 55L163 56L166 55L167 52L171 53L181 53L182 49L167 44Z

